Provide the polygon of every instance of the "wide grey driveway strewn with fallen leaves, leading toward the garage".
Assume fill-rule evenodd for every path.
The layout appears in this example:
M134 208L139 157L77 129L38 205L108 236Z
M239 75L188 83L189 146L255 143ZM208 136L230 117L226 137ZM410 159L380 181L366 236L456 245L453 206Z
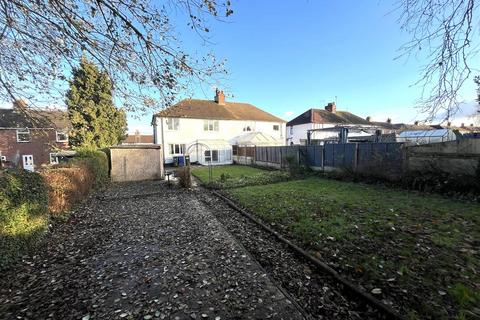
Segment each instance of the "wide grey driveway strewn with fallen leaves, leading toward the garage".
M89 199L1 275L0 318L302 319L212 211L161 182Z

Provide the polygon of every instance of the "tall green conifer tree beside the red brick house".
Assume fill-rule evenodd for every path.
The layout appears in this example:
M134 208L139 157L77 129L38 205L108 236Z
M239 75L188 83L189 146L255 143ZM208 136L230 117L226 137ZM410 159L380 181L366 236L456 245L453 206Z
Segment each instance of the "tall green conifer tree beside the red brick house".
M127 129L125 111L113 103L113 85L107 73L83 57L72 71L66 104L72 123L73 147L104 148L118 144Z

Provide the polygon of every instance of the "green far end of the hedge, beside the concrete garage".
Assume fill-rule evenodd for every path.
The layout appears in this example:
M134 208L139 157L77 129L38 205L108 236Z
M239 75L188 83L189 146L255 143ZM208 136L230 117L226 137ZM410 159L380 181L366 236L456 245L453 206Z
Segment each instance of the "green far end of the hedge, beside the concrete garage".
M96 190L104 188L110 182L107 154L88 148L76 151L77 154L71 166L87 166L94 177L93 188Z

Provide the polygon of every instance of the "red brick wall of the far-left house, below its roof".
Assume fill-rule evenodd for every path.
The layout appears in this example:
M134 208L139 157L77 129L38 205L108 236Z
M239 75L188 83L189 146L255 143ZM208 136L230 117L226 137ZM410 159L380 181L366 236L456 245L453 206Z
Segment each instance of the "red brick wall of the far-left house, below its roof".
M22 155L33 155L35 168L50 163L50 153L68 149L68 142L56 142L54 129L30 129L30 142L17 142L15 129L0 129L0 154L7 165L22 166Z

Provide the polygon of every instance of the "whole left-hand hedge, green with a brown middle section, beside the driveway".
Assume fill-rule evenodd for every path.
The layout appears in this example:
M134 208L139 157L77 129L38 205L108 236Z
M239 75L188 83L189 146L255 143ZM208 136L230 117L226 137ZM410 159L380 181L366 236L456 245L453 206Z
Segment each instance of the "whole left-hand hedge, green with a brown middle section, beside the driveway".
M107 156L95 150L79 150L70 163L40 173L0 171L0 269L39 241L51 216L68 212L108 181Z

